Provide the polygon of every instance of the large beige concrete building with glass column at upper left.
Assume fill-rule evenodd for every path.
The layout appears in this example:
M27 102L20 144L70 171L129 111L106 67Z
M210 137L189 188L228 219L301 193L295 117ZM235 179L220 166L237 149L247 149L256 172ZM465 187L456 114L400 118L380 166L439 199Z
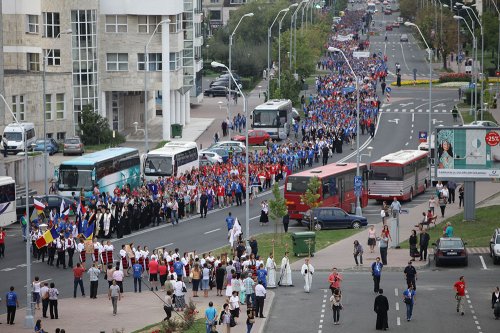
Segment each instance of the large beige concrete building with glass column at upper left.
M162 117L162 138L169 139L170 124L189 123L190 103L202 96L201 0L1 0L1 6L0 93L20 121L36 124L38 137L44 59L49 137L77 133L87 105L119 132ZM6 125L12 117L3 111L2 105Z

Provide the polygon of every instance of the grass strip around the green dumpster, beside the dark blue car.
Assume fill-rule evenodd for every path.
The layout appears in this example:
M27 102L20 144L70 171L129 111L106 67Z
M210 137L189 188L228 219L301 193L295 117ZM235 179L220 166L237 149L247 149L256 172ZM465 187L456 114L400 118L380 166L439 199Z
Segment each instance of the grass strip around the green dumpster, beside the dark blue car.
M281 225L279 226L281 228ZM256 228L260 228L262 230L265 230L266 228L274 228L272 222L269 222L268 226L258 226ZM350 237L361 230L364 229L339 229L339 230L321 230L316 232L316 252L319 250L324 249L325 247L332 245L344 238ZM301 231L307 231L306 228ZM273 239L274 239L274 252L275 252L275 260L278 261L281 260L281 257L285 253L285 251L290 252L290 262L295 262L297 260L300 260L302 257L295 257L293 255L293 242L292 242L292 235L290 232L288 233L283 233L280 232L278 234L274 233L265 233L265 234L258 234L254 236L255 239L257 240L258 248L259 248L259 255L261 256L261 259L267 258L269 253L273 252ZM212 251L212 254L214 256L221 255L223 253L230 253L231 248L229 245L215 249Z

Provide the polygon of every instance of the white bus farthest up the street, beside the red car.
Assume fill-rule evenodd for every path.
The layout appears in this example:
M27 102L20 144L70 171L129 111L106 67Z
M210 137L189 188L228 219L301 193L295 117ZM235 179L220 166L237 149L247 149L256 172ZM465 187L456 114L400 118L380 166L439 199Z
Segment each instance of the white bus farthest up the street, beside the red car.
M290 134L292 119L300 119L289 99L269 100L258 105L250 116L253 129L269 133L272 139L284 140Z

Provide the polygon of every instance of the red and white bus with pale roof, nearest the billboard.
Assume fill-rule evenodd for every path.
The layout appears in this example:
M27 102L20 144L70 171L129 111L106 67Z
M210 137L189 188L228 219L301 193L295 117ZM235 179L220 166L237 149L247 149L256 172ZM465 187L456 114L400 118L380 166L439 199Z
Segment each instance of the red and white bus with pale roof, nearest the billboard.
M412 200L430 185L428 153L400 150L370 163L368 197L377 200Z

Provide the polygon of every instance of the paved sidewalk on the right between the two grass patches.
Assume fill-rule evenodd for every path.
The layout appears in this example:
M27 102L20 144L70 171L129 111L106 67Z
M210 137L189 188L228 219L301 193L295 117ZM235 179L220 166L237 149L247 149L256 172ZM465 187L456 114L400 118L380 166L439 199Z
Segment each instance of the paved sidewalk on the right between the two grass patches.
M494 196L495 194L500 192L500 187L498 183L486 183L486 182L476 182L476 203L481 203L486 199ZM433 191L428 190L424 194L420 194L425 198L430 197ZM412 208L407 215L400 215L399 225L400 225L400 243L405 242L409 236L411 230L415 229L415 224L420 221L422 217L422 212L427 211L427 201L424 201L420 205ZM446 207L446 215L445 217L454 216L462 212L461 208L458 208L458 203L450 204ZM441 222L441 219L438 219L438 223ZM389 222L389 228L391 227L391 222ZM375 225L375 230L377 235L380 234L382 230L382 224L377 223ZM392 230L392 229L391 229ZM391 231L392 239L395 240L395 235ZM353 258L353 243L355 240L358 240L364 249L363 262L364 266L356 267L354 264ZM316 252L314 257L311 258L311 264L314 266L315 270L326 270L330 271L333 267L337 267L341 270L359 270L366 271L369 269L371 263L375 260L376 257L380 255L377 248L375 248L374 253L370 253L370 249L367 245L368 233L367 231L362 231L357 233L349 238L343 239L338 243L330 245L329 247ZM431 240L432 242L433 240ZM390 244L393 246L393 244ZM388 265L386 267L389 270L400 270L404 268L408 261L410 260L410 253L408 249L394 249L389 248L387 253L387 262ZM304 260L298 260L292 264L292 270L300 270L302 267ZM428 262L425 261L415 261L414 266L418 268L422 268L428 265Z

